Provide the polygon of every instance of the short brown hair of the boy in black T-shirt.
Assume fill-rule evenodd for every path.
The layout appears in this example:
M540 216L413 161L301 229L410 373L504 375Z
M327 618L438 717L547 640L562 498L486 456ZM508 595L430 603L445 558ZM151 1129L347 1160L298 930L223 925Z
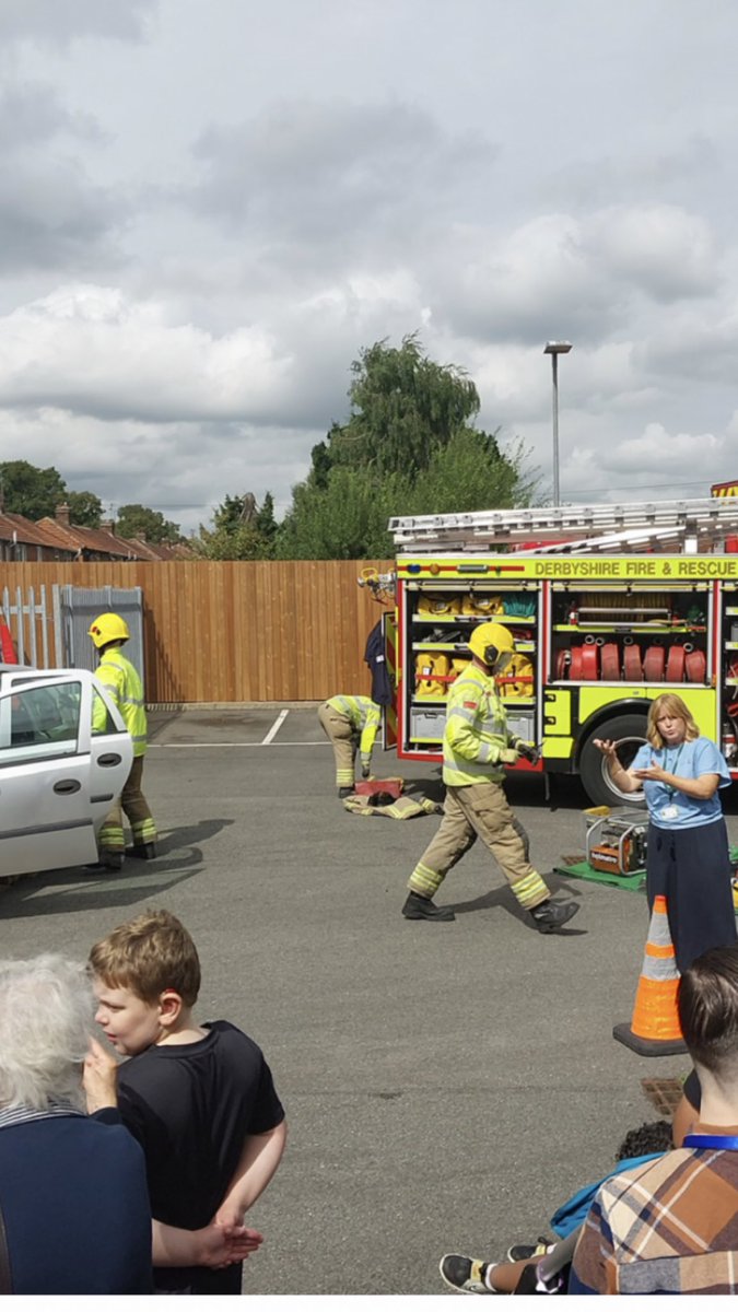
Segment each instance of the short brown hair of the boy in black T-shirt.
M200 993L200 958L184 925L169 911L146 911L101 938L89 967L109 988L129 988L143 1002L175 989L185 1006Z

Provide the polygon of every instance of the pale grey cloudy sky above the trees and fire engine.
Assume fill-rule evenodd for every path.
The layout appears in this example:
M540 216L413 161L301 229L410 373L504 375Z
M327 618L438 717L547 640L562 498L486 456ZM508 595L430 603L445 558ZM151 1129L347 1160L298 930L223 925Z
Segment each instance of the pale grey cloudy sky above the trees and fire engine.
M280 517L418 332L565 502L738 479L734 0L0 0L0 459Z

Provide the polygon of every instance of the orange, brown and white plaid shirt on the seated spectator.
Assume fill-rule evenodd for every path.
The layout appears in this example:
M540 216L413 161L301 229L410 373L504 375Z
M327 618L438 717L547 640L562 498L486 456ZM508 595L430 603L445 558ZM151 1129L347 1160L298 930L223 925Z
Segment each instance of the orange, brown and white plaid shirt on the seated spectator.
M567 1292L737 1294L738 1151L679 1148L605 1181Z

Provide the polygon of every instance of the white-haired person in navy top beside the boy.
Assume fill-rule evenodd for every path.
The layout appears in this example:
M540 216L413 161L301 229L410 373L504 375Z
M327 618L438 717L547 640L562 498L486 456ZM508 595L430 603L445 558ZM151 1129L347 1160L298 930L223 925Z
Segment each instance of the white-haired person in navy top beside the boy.
M116 1110L81 1110L92 1029L84 966L0 962L0 1294L152 1294L152 1250L227 1266L261 1241L152 1225L141 1147Z

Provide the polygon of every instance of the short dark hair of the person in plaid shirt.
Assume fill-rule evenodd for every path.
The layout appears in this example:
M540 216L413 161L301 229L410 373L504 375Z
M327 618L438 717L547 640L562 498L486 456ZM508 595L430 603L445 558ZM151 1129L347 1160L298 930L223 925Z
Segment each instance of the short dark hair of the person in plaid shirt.
M720 1073L738 1064L738 947L710 947L679 980L679 1019L689 1055Z

